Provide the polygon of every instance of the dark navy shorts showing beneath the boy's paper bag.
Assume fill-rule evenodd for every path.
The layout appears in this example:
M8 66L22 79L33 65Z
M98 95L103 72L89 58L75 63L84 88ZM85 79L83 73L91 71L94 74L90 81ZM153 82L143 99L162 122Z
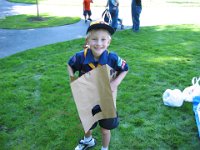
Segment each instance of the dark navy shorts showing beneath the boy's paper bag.
M109 118L109 119L102 119L102 120L99 120L98 122L95 122L93 124L93 126L90 128L90 130L96 128L97 124L99 123L99 126L104 128L104 129L107 129L107 130L112 130L114 128L117 128L118 125L119 125L119 118L118 118L118 115L116 118Z

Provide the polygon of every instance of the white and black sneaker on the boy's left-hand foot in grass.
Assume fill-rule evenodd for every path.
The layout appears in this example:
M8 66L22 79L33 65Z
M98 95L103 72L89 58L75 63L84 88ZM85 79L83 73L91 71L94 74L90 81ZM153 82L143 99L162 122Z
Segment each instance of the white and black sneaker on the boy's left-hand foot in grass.
M88 148L94 147L95 145L96 145L96 141L94 138L92 138L89 142L80 140L75 150L87 150Z

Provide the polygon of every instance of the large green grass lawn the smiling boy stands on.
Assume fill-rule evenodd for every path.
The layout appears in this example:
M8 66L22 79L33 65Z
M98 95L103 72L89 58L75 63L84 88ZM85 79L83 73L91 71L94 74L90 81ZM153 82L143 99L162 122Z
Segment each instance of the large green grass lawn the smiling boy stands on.
M192 104L167 107L163 92L183 90L199 76L200 25L142 27L113 36L130 70L119 87L120 125L110 150L198 149ZM83 129L69 86L66 62L82 49L77 39L0 59L1 149L72 150ZM99 128L94 130L100 149Z

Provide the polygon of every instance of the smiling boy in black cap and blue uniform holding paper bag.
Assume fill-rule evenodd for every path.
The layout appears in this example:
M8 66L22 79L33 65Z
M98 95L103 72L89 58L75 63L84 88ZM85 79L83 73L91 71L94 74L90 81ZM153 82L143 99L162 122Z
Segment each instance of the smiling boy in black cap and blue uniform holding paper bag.
M72 78L76 71L79 71L79 76L91 71L92 67L89 65L91 63L96 67L99 64L107 64L119 72L116 79L110 83L112 92L117 90L117 87L128 72L128 65L117 54L107 50L111 42L111 35L114 32L115 30L106 22L97 21L91 23L87 29L86 44L88 49L86 56L84 56L84 51L80 51L72 56L68 62L68 71ZM99 123L102 133L101 150L108 150L111 138L110 130L118 126L118 117L102 119L96 122L85 134L84 139L79 142L75 150L83 150L95 146L95 140L92 138L92 129L97 126L97 123Z

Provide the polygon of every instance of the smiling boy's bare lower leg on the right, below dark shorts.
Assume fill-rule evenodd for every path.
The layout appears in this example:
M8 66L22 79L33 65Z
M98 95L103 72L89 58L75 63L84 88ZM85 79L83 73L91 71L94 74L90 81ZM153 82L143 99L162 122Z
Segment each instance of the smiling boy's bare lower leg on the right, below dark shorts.
M102 149L108 149L111 137L110 130L101 128L101 133L102 133Z

